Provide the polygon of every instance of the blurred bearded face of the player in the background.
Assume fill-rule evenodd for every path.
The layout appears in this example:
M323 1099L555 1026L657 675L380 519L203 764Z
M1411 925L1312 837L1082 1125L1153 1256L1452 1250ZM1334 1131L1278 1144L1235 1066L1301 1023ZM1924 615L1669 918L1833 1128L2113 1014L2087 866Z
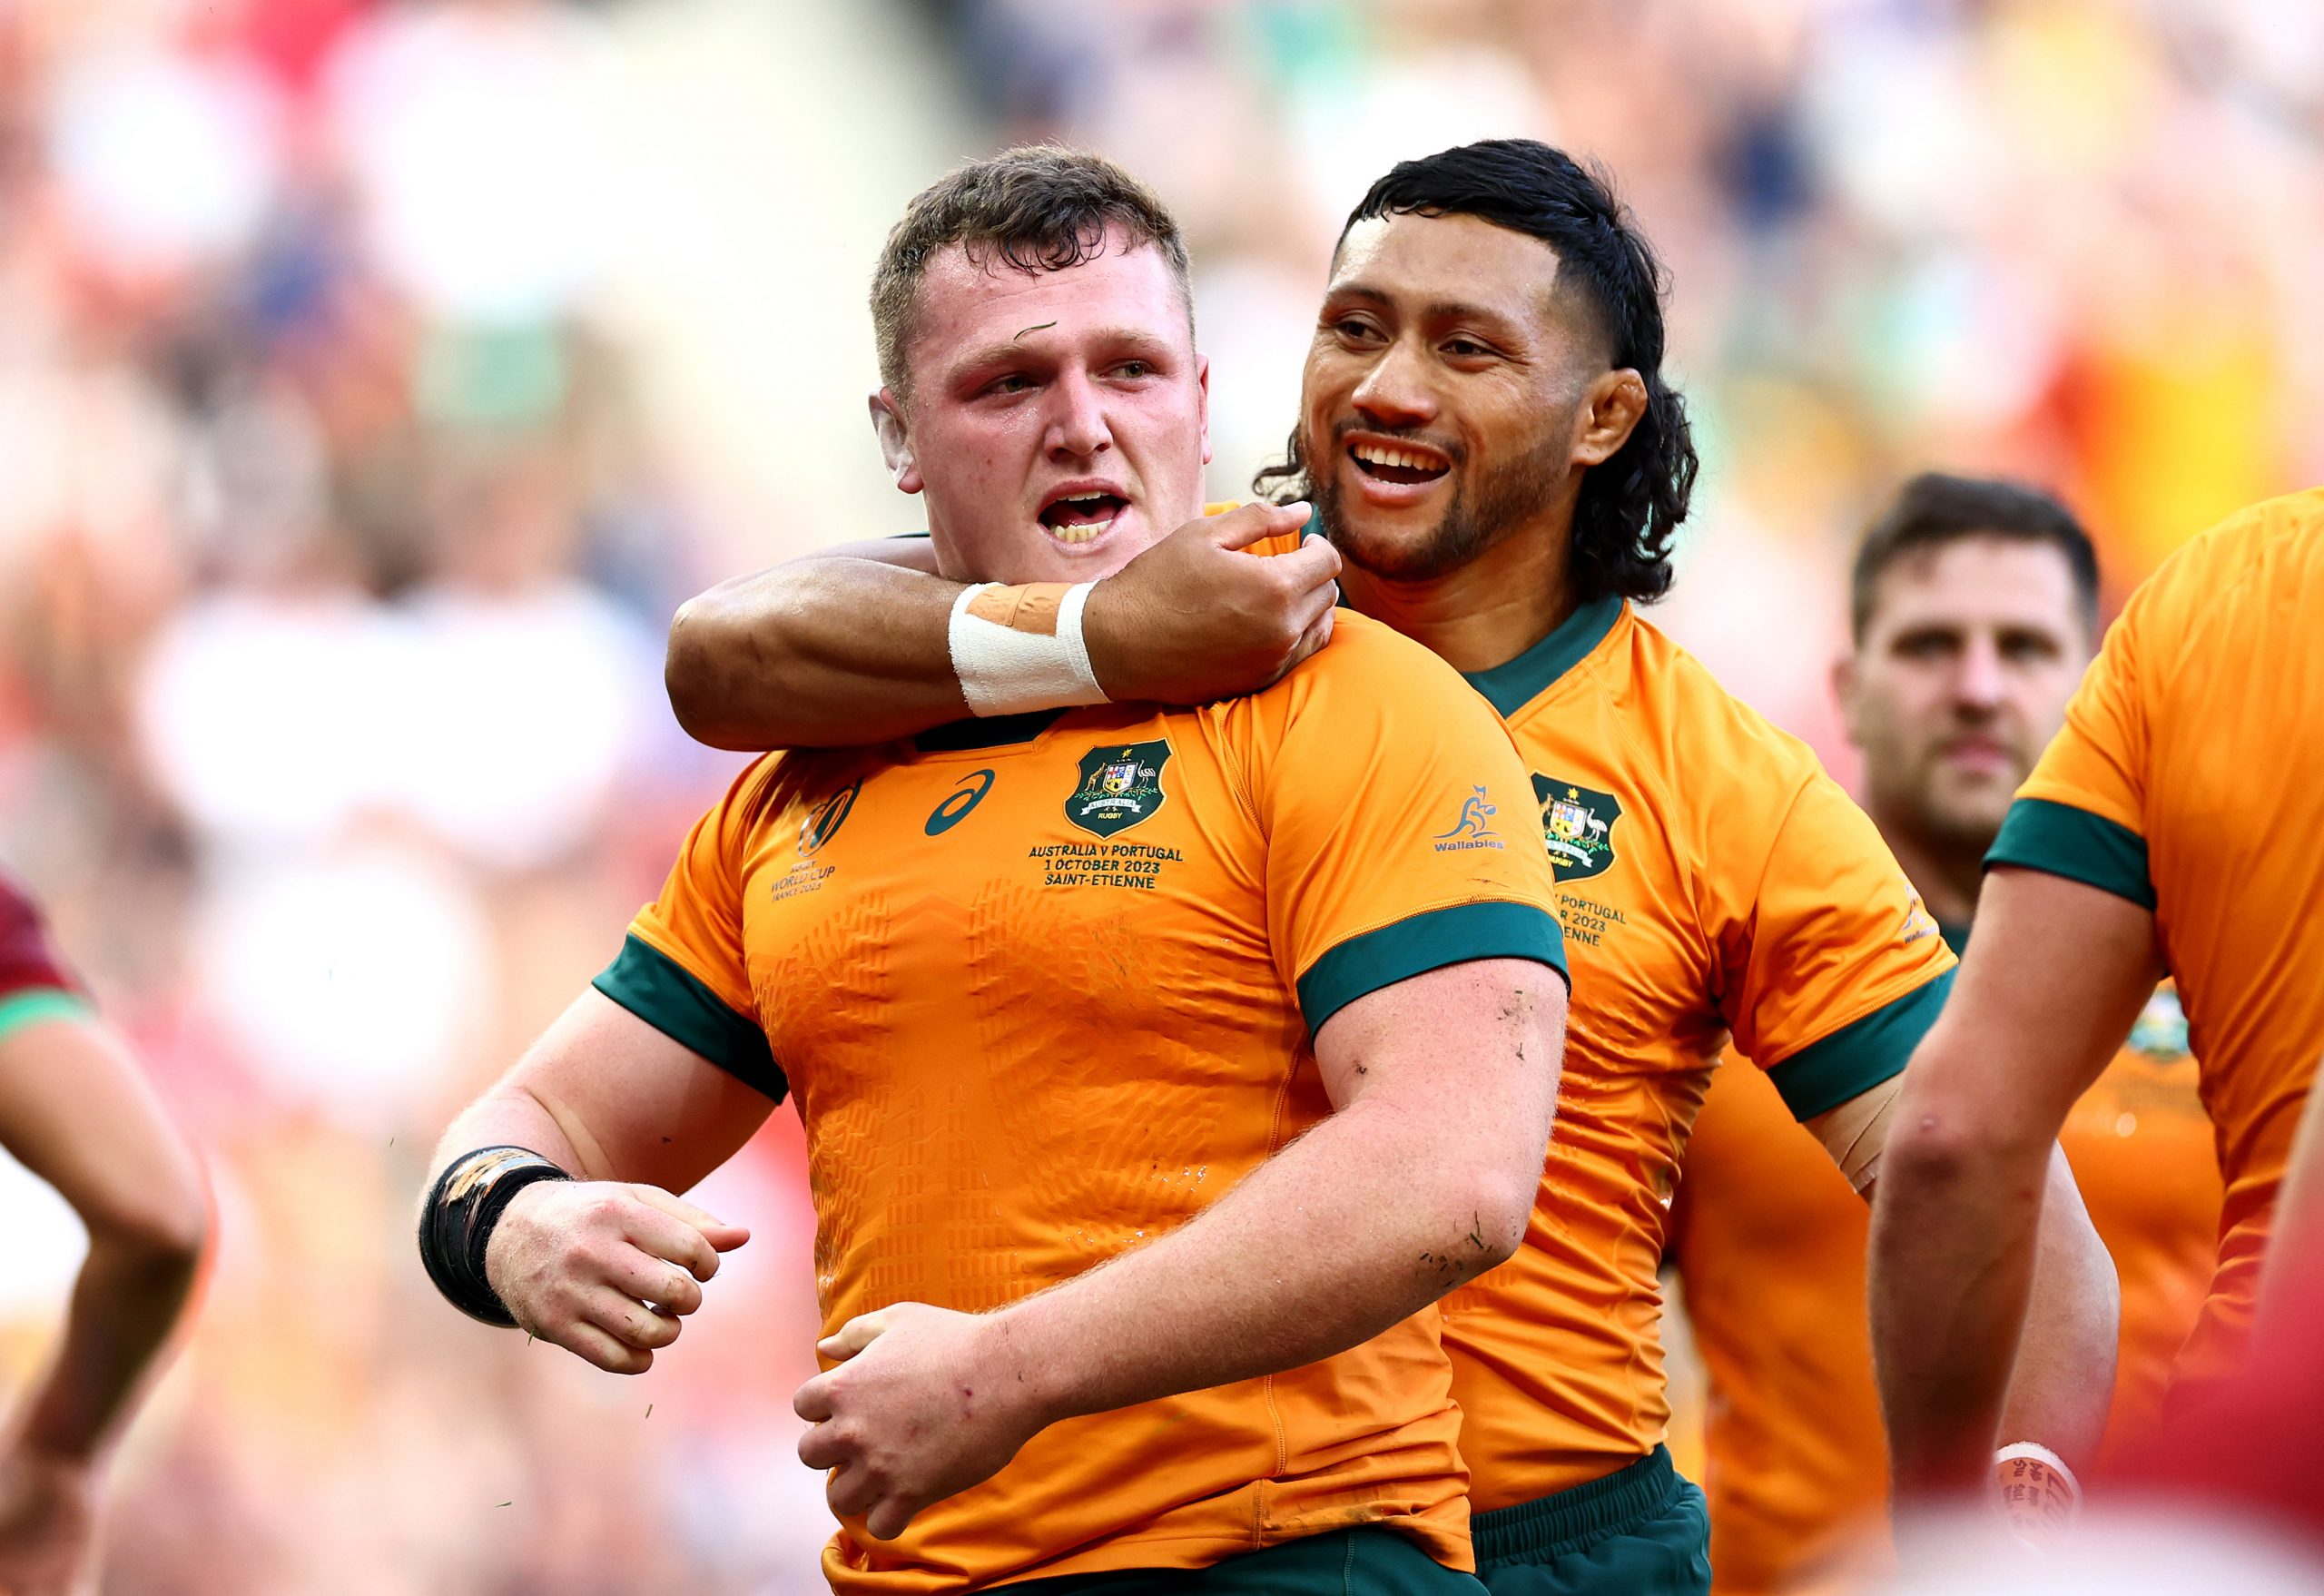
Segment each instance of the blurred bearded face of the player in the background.
M1971 534L1899 555L1838 671L1882 829L1987 848L2092 648L2073 569L2050 544Z

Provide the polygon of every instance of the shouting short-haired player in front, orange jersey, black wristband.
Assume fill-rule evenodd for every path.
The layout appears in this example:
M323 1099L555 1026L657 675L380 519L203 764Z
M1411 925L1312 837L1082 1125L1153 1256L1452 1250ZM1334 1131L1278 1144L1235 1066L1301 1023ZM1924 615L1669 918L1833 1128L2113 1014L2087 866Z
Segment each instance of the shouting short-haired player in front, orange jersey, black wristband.
M1055 660L1083 583L1197 516L1185 279L1160 202L1069 151L890 235L874 418L992 657ZM430 1273L646 1368L744 1243L676 1192L788 1092L834 1589L1476 1589L1422 1310L1518 1248L1548 1141L1529 815L1506 729L1367 620L1220 709L760 760L449 1131Z

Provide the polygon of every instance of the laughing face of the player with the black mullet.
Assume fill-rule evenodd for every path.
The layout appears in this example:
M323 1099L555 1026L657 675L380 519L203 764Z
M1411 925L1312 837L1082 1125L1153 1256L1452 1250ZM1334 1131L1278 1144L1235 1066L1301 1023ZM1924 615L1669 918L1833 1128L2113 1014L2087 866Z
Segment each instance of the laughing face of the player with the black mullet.
M1425 581L1520 527L1569 534L1580 472L1608 453L1590 441L1597 388L1618 374L1555 281L1548 244L1476 216L1348 228L1299 425L1350 562Z

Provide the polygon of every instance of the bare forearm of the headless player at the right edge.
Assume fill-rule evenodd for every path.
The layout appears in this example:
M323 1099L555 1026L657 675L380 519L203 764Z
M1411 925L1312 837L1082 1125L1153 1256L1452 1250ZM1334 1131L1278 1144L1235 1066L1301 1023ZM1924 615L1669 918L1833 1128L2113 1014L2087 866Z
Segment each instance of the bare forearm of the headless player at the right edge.
M1917 1124L1910 1101L1899 1117L1873 1203L1873 1364L1896 1494L1924 1496L1992 1468L2033 1294L2047 1148L1945 1136Z

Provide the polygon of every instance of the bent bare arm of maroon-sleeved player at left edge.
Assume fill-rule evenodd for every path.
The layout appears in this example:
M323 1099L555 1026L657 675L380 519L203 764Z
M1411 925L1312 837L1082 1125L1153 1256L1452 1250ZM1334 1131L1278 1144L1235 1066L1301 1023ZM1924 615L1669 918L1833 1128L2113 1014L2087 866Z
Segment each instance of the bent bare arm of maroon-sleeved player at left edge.
M63 1343L16 1424L21 1445L86 1464L119 1438L186 1310L209 1229L202 1171L95 1020L0 1041L0 1141L88 1227Z

